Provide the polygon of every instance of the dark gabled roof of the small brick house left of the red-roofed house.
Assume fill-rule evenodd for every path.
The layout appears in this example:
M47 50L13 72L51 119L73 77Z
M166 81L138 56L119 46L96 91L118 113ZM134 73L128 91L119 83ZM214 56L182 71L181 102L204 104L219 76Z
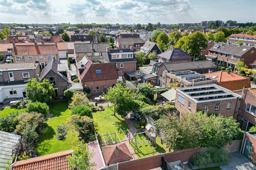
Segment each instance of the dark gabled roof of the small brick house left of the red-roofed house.
M63 80L68 82L68 78L65 77L63 74L61 74L60 72L58 72L58 63L55 60L50 61L46 65L46 67L44 67L44 69L42 70L39 78L42 80L44 77L46 77L46 75L50 72L50 70L52 70L52 72L54 72L56 75L58 75Z

